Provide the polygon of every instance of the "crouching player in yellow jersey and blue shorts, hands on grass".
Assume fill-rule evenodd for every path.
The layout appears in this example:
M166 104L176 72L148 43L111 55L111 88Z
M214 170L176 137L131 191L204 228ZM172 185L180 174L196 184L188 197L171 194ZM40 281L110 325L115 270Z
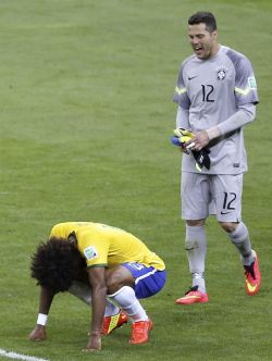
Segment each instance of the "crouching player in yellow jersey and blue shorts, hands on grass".
M108 335L127 320L132 322L129 343L148 341L152 321L139 299L162 289L165 266L134 235L100 223L60 223L53 226L48 241L38 246L30 269L40 285L40 300L29 339L46 339L53 297L69 290L91 304L87 351L100 349L101 334Z

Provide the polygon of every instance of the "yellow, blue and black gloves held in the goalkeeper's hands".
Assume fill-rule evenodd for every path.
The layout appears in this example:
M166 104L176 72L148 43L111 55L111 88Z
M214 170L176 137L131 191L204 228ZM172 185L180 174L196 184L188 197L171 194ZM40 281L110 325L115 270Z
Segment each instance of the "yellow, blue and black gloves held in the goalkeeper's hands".
M171 137L171 141L173 145L178 146L183 149L185 153L188 154L188 150L185 147L185 144L194 138L194 133L183 129L176 128L174 129L174 135ZM207 148L201 149L200 151L191 150L191 154L196 161L196 169L201 172L205 166L207 170L211 166L211 161L209 157L209 150Z

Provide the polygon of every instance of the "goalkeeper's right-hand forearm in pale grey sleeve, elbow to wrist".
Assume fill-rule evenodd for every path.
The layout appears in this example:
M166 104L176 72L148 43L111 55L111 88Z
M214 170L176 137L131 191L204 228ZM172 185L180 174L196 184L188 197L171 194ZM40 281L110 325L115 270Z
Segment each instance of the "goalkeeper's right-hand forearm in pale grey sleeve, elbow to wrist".
M209 139L211 140L220 136L224 136L233 130L239 129L244 125L252 122L255 120L255 104L246 104L242 107L236 113L231 115L227 120L218 124L217 126L206 129L206 132L209 136Z

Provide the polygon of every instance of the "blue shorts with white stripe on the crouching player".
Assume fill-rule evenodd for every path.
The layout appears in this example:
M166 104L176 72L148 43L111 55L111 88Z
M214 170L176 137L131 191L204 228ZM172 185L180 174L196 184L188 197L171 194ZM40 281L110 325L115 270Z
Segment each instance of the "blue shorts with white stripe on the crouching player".
M147 267L141 263L127 262L122 263L135 278L135 295L137 298L148 298L156 295L165 284L165 270L159 271L154 267Z

